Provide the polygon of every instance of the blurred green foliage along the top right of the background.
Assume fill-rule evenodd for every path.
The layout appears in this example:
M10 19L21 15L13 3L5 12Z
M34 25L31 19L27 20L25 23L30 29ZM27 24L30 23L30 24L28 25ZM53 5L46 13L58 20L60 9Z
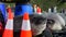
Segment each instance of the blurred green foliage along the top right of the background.
M42 10L46 10L51 7L57 7L58 11L61 11L61 9L66 8L66 3L61 3L62 0L31 0L32 4L38 4Z

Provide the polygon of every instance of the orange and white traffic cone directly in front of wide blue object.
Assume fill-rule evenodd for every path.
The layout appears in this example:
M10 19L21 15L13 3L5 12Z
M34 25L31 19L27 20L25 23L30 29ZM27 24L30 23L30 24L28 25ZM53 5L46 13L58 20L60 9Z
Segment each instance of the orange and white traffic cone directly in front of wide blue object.
M32 37L29 13L24 13L20 37Z

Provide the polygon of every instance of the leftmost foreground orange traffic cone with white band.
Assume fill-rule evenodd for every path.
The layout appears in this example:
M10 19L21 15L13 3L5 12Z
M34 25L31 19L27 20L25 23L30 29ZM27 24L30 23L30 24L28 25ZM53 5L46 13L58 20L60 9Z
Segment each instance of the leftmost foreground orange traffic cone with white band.
M2 37L13 37L13 13L10 10Z

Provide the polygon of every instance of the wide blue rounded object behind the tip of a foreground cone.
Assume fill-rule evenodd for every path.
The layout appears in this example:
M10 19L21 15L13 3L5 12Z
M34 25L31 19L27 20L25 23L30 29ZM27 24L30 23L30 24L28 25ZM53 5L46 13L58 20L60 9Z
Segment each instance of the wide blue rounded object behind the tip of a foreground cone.
M14 15L23 15L25 12L33 14L33 9L31 4L20 4L16 3Z

